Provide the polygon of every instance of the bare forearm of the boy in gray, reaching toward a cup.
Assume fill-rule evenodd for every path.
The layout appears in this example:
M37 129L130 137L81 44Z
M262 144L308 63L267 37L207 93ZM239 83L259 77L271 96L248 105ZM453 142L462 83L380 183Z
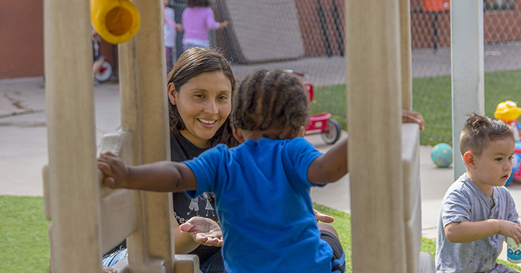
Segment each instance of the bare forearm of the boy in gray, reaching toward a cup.
M516 243L521 244L521 226L507 220L452 222L445 226L445 237L450 242L474 242L497 233L511 237Z

